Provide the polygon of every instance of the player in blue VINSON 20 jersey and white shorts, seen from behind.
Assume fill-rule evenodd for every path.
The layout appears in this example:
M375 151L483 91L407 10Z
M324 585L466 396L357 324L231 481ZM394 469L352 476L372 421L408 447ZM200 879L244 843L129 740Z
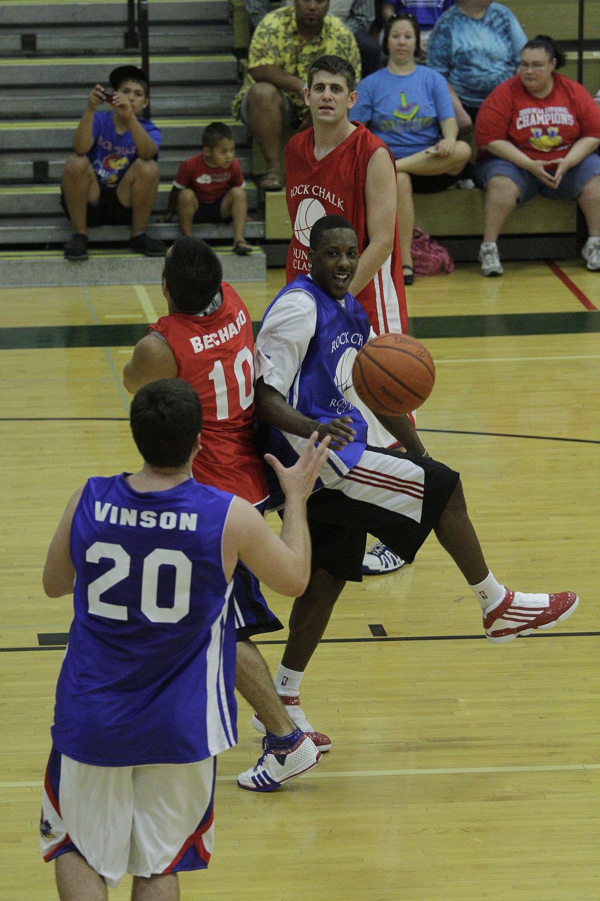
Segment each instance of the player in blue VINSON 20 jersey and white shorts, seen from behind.
M106 901L127 870L132 901L177 901L176 873L206 868L216 756L237 740L234 569L242 560L283 595L309 581L306 499L327 448L314 435L291 469L271 460L280 539L246 500L193 479L201 422L183 380L141 388L130 423L143 468L88 479L50 543L44 589L73 592L75 607L40 819L61 901ZM297 732L291 757L309 769L320 754ZM272 744L255 772L278 787L271 764L282 771L289 749Z

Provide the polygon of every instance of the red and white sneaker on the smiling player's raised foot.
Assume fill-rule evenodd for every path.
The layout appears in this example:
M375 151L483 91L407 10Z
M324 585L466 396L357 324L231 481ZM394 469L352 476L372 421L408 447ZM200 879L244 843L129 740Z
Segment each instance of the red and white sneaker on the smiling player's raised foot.
M559 595L526 595L510 591L493 609L483 613L483 628L490 642L512 642L517 635L531 635L538 629L552 629L569 618L579 603L572 591Z

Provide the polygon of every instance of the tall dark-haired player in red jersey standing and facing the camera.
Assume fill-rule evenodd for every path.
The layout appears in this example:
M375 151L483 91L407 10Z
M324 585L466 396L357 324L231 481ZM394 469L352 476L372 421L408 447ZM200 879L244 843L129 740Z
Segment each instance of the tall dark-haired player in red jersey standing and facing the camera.
M288 282L309 271L310 229L325 215L341 215L358 235L360 259L349 291L372 329L407 331L407 299L396 220L396 166L391 151L348 113L356 103L356 76L347 60L316 59L304 99L312 128L285 149L285 196L293 234Z

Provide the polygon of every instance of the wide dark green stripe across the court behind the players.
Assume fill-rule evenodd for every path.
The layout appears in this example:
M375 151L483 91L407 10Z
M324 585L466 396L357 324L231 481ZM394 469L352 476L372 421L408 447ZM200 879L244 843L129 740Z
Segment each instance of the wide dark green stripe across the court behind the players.
M256 332L260 323L252 324ZM408 332L425 339L600 332L600 312L415 316L408 321ZM130 347L145 333L146 323L18 326L0 329L0 350Z

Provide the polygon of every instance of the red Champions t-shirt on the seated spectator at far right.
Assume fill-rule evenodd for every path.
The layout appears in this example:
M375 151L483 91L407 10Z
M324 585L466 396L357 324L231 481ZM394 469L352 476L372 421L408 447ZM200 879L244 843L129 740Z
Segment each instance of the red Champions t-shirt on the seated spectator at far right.
M585 87L558 72L546 97L534 97L515 75L483 101L475 141L510 141L531 159L560 159L579 138L600 139L600 110Z

